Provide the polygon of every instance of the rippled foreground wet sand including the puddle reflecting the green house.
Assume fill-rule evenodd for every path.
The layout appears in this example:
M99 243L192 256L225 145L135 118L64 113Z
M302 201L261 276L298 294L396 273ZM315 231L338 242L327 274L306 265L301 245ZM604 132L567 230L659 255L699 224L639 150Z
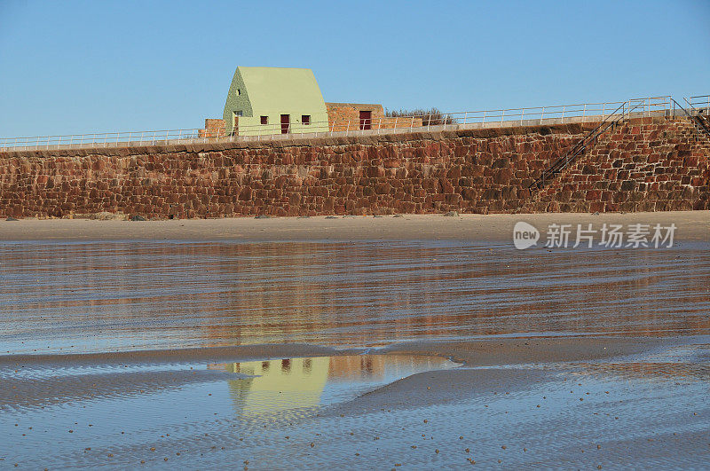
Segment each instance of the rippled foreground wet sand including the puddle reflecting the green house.
M442 369L430 352L465 364ZM706 336L422 341L364 353L319 357L324 349L281 345L5 356L0 467L704 467L710 459ZM378 374L388 357L397 371ZM320 358L327 377L315 373ZM241 362L226 365L247 374L213 361ZM306 361L313 373L302 377L294 368ZM244 369L286 362L271 388L254 381L272 373ZM325 383L310 392L294 386L319 377Z

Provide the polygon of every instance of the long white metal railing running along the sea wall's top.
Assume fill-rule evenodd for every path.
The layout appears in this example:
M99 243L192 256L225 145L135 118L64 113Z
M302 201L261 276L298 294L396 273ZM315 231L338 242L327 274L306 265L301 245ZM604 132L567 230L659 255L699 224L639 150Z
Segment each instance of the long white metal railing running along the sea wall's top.
M670 97L652 97L623 102L505 108L411 116L383 116L375 117L371 120L348 122L239 125L235 132L229 132L225 127L221 127L88 133L63 136L7 137L0 139L0 151L260 141L296 137L353 136L418 132L422 130L460 130L543 123L604 121L608 116L618 113L619 108L624 104L631 102L635 103L634 114L664 114L672 107Z

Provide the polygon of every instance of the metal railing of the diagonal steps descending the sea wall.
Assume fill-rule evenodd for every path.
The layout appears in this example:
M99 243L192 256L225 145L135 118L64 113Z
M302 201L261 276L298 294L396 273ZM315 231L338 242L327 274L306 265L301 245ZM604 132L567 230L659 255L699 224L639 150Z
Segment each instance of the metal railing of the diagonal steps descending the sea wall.
M535 178L528 188L533 191L540 190L546 182L556 177L561 171L569 167L578 157L587 152L587 149L593 147L598 142L599 138L604 135L607 130L613 130L619 122L631 117L648 116L658 114L658 112L675 116L675 106L677 102L672 97L654 97L654 98L635 98L625 101L619 105L617 109L604 117L593 130L589 131L585 137L582 137L577 144L572 145L562 157L552 162L552 164L540 172L540 177ZM679 106L682 108L682 106ZM683 111L685 111L683 109ZM687 113L686 113L687 114Z

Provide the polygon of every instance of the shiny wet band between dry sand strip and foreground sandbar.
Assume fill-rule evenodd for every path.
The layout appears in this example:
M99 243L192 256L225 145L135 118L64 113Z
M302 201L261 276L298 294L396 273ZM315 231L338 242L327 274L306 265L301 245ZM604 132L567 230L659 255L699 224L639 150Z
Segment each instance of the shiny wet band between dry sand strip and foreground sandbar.
M0 354L710 334L710 243L0 244Z

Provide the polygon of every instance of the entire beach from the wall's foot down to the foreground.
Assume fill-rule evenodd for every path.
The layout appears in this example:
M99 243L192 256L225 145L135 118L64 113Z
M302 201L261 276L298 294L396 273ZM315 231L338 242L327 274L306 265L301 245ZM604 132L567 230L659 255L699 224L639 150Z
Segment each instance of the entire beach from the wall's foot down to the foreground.
M707 467L709 225L0 221L0 468Z

